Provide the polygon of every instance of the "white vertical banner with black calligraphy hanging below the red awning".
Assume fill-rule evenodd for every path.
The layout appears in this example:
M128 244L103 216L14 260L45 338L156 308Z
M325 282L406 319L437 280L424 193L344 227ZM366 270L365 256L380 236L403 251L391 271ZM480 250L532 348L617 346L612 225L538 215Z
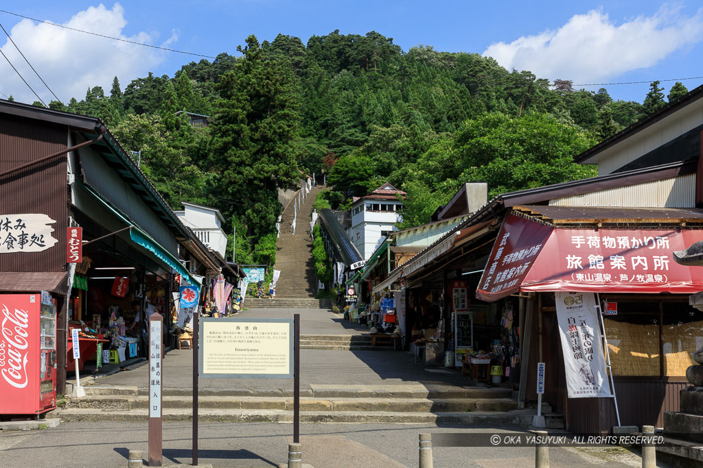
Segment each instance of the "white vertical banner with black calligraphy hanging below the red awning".
M556 293L569 398L610 397L595 294Z

